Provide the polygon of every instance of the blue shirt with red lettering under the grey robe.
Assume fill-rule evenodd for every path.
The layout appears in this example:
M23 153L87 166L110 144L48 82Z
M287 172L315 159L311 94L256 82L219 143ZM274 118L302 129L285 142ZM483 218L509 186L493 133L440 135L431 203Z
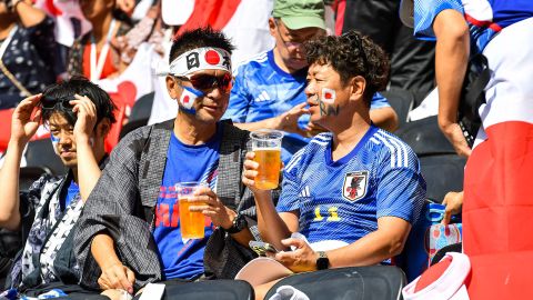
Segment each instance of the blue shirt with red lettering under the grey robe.
M173 133L171 136L153 230L153 239L158 246L165 279L191 279L204 271L203 252L213 232L211 220L205 218L203 239L182 239L174 184L202 181L208 182L209 187L215 190L221 137L222 126L220 124L214 137L200 146L184 144Z

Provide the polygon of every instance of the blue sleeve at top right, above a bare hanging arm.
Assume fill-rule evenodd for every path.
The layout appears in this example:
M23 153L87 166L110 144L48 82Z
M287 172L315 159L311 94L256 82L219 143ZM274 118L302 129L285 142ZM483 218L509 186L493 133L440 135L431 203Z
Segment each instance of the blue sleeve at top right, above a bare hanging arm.
M433 21L446 9L464 13L461 0L415 0L414 1L414 36L422 40L434 40Z

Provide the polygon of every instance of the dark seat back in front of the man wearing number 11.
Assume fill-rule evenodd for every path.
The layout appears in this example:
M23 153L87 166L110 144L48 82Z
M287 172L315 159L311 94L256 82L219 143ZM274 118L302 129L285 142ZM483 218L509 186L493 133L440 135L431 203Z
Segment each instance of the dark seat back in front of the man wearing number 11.
M405 286L405 274L393 266L369 266L298 273L280 280L264 299L281 286L292 286L310 299L398 300Z

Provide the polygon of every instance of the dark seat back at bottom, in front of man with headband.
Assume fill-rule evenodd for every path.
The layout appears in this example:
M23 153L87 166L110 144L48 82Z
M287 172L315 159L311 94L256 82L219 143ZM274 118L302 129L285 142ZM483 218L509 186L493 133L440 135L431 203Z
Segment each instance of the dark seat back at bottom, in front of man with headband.
M258 270L259 271L259 270ZM175 283L175 284L174 284ZM163 300L253 300L252 286L243 280L205 280L165 283ZM137 296L133 299L139 299ZM149 298L150 299L150 298Z

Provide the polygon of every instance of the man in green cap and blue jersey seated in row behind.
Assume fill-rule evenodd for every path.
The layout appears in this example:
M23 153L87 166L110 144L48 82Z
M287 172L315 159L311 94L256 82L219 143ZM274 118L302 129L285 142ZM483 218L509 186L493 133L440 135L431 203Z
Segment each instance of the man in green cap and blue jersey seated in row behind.
M288 163L309 142L308 137L321 131L309 122L305 108L308 62L302 46L325 34L324 3L276 0L272 16L269 29L275 46L238 68L224 117L250 131L264 128L285 131L282 159ZM386 99L375 94L371 108L371 119L376 126L396 128L396 114Z

